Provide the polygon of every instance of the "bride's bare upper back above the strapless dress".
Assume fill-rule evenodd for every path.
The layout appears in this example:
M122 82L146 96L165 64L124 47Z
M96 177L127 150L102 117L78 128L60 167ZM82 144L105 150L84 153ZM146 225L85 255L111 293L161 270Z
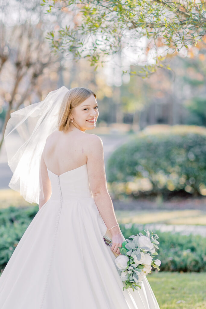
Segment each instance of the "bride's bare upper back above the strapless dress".
M56 175L87 163L85 143L87 133L80 130L54 131L46 140L43 157L47 168Z

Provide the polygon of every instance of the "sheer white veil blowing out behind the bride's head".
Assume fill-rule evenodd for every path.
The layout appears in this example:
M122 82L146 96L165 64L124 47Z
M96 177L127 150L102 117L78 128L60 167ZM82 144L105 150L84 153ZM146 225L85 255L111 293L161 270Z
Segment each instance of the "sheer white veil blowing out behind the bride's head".
M49 92L35 104L11 113L4 134L8 165L13 172L9 187L29 203L39 204L41 189L40 159L47 137L57 130L58 114L65 86Z

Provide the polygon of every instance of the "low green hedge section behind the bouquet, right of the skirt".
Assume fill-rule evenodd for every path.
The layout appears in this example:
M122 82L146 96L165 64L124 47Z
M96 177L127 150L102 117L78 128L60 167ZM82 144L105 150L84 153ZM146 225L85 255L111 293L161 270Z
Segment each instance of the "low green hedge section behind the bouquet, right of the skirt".
M144 230L135 224L120 224L120 229L128 239ZM206 271L206 238L200 235L180 235L171 232L153 231L159 236L157 258L161 260L161 271L202 272Z

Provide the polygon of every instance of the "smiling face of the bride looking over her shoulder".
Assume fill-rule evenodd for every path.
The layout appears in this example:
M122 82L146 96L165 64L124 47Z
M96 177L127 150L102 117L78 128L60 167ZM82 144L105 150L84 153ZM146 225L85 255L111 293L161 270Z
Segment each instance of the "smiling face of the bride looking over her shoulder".
M70 122L70 124L82 131L91 130L96 127L98 116L97 101L94 95L90 95L89 98L74 108L71 116L73 122Z

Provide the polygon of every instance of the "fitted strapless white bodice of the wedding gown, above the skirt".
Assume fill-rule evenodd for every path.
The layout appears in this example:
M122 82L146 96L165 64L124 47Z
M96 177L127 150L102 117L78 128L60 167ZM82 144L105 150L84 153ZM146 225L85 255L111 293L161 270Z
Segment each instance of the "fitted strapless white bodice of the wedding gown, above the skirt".
M93 197L90 189L87 164L62 173L59 176L48 168L47 171L52 186L50 200L61 200L64 202L73 198L82 199Z

